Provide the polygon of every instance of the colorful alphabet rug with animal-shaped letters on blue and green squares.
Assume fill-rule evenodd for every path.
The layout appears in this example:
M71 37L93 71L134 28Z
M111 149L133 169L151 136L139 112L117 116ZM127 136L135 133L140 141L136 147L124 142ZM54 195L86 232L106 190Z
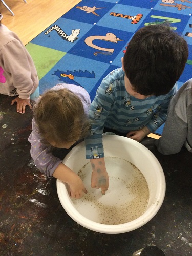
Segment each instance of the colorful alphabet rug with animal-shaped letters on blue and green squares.
M93 100L101 80L121 67L127 44L143 26L169 23L182 33L189 58L178 88L192 76L192 0L82 0L26 48L40 93L59 82L84 87ZM156 132L162 133L161 126Z

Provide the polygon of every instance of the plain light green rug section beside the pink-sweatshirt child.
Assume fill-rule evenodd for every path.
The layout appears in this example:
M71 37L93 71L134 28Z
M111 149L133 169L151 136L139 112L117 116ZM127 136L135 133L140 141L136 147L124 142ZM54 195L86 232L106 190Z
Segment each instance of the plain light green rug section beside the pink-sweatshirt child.
M31 44L31 42L26 45L26 49L35 63L39 80L44 77L63 56L66 55L66 52Z

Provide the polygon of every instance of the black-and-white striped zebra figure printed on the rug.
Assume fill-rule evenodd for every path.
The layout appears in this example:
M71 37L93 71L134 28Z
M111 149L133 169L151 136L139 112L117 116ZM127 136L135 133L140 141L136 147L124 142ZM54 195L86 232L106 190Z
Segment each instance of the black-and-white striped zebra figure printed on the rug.
M51 31L57 31L58 35L69 42L74 42L78 39L78 34L80 33L80 29L72 29L71 35L67 35L58 25L54 25L49 28L44 34L48 35Z

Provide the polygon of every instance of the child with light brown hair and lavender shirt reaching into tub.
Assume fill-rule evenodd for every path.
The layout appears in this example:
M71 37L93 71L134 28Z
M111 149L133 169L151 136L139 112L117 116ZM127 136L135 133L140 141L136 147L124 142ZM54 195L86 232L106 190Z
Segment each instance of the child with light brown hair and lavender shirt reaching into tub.
M87 118L91 104L88 92L74 84L60 83L45 92L34 105L31 156L40 172L69 185L70 195L87 193L82 180L53 154L55 148L69 149L89 130Z

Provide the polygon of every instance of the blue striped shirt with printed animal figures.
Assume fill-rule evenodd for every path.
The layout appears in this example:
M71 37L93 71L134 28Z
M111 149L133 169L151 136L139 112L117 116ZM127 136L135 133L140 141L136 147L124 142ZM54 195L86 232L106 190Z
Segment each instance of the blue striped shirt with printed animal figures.
M110 72L97 89L89 110L91 134L85 140L86 158L104 157L104 127L126 134L146 126L155 132L165 122L170 99L176 90L177 84L166 95L137 99L125 89L122 68Z

